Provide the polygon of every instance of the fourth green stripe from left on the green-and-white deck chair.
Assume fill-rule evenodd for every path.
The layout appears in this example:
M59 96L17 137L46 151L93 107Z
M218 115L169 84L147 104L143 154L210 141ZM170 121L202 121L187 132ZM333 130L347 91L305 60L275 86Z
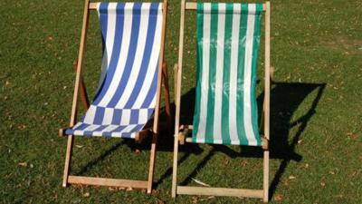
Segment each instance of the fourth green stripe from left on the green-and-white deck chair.
M243 71L245 64L245 38L246 28L248 23L248 15L243 11L248 11L248 5L242 4L242 12L240 15L239 27L239 51L238 51L238 68L237 68L237 90L243 90ZM243 128L243 92L237 92L236 96L236 124L238 137L241 144L248 144L246 139L245 130Z

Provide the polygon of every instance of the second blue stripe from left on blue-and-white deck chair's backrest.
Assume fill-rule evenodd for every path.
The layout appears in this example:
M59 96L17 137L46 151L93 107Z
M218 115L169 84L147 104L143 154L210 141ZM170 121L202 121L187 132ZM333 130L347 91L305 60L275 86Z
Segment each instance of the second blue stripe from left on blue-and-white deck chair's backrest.
M113 75L116 72L117 64L119 63L119 53L120 47L122 45L122 38L123 38L123 24L124 24L124 3L117 4L117 18L116 18L116 30L114 35L114 44L113 44L113 51L112 56L110 57L110 65L107 69L107 75L103 81L100 88L100 92L97 92L93 104L97 105L103 99L104 95L108 91L110 87L110 83L112 82ZM104 27L101 27L102 29Z

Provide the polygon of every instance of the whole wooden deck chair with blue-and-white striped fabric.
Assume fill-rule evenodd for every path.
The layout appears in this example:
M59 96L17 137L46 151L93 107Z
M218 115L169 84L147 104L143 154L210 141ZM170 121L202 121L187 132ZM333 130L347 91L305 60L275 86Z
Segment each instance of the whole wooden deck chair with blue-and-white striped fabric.
M82 81L90 10L100 18L102 73L100 85L89 105ZM62 185L85 184L134 189L151 192L156 144L161 83L167 86L167 66L164 63L167 1L163 3L90 3L85 0L81 45L76 63L75 88L69 128L60 130L68 136ZM88 109L77 120L78 97ZM168 96L168 88L166 88ZM166 100L169 109L169 99ZM145 126L152 121L152 127ZM152 124L152 123L151 123ZM148 180L119 180L71 176L71 150L74 135L129 138L136 141L152 135ZM130 163L129 165L132 165Z

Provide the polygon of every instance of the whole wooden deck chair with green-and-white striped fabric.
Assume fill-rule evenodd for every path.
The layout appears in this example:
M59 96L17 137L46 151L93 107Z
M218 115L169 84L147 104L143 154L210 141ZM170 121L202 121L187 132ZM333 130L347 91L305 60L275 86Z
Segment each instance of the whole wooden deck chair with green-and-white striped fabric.
M270 104L270 3L191 3L182 0L176 71L176 121L172 196L176 194L261 198L268 201ZM197 76L193 124L180 124L186 10L197 11ZM265 14L263 136L258 130L256 73ZM188 133L192 137L187 137ZM263 149L263 189L177 186L177 153L184 142L248 145Z

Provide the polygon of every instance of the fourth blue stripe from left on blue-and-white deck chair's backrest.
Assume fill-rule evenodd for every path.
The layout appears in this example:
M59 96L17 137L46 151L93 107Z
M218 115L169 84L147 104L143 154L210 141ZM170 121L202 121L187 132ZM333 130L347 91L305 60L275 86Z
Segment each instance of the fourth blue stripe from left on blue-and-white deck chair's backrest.
M157 24L157 8L158 4L151 4L149 17L148 17L148 32L145 44L145 50L142 57L142 63L140 66L140 70L138 73L137 82L132 93L129 96L129 101L126 103L125 108L130 109L132 108L133 104L136 102L139 92L143 86L143 83L146 78L146 73L149 67L149 61L151 58L152 47L155 39L155 32L156 32L156 24Z

